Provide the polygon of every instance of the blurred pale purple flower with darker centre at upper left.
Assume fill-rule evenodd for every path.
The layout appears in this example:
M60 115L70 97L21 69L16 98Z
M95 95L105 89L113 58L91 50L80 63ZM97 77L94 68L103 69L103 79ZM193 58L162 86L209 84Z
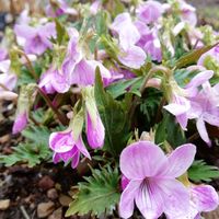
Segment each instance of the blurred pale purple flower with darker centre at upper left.
M30 26L27 24L16 24L14 26L16 37L24 47L26 54L42 55L47 48L51 48L50 37L56 37L55 23Z

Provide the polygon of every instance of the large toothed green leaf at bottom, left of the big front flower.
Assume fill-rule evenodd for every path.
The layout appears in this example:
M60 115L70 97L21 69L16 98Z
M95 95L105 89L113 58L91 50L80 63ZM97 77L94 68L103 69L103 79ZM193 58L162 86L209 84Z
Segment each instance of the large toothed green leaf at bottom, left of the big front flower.
M84 178L87 182L77 186L78 193L73 196L66 217L89 212L97 217L102 214L112 214L120 196L118 169L112 170L107 166L92 170L92 176Z

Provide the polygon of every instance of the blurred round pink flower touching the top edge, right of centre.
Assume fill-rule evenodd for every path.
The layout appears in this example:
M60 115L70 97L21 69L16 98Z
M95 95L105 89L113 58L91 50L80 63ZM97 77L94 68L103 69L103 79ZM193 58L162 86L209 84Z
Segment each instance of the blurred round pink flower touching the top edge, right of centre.
M158 21L163 13L162 4L158 1L149 0L139 5L137 16L146 24L151 24Z

